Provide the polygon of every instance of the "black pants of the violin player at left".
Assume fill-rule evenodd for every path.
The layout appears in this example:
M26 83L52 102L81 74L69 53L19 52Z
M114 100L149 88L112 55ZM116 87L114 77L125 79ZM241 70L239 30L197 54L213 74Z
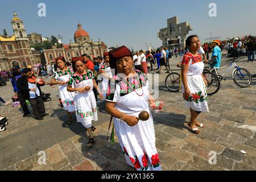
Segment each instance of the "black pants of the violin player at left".
M33 113L36 118L40 118L41 115L46 113L46 108L44 107L44 101L42 96L36 96L36 98L30 98L30 105L33 109Z

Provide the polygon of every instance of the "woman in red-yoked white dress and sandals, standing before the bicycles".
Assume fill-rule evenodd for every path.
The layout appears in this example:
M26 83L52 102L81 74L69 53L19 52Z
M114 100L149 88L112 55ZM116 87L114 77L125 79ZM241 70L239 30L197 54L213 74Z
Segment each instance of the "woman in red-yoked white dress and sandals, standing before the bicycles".
M188 126L192 131L199 133L196 126L204 127L203 123L196 122L199 114L209 112L207 105L207 91L203 76L204 63L198 49L200 40L196 35L191 35L186 40L186 47L189 52L185 53L181 62L181 90L185 101L185 106L191 111L191 119Z

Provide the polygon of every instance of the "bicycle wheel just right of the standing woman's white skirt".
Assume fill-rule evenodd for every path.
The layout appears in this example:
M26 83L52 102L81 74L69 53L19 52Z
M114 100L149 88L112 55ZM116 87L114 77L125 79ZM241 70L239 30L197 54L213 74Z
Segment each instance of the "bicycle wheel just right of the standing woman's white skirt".
M207 94L210 96L217 93L220 89L220 80L218 77L212 72L204 72L203 75L207 81Z

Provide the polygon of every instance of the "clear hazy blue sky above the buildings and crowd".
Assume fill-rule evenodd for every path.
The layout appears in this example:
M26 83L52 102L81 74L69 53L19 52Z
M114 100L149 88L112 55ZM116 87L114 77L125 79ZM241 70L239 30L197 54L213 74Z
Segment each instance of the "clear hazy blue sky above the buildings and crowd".
M46 17L38 16L38 4L46 4ZM217 17L208 15L209 3L216 3ZM167 27L167 19L178 16L180 22L191 23L193 31L203 40L213 36L221 38L256 35L255 0L8 0L0 7L0 34L5 28L13 34L13 10L24 22L27 34L63 36L68 44L77 30L77 23L87 31L93 41L100 38L108 47L133 46L146 49L146 43L161 46L157 38L160 28Z

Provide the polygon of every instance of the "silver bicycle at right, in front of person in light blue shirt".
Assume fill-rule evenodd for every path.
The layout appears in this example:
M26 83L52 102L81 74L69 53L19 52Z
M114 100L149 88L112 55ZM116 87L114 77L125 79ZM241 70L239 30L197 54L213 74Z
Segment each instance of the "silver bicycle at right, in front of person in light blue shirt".
M224 67L221 67L221 68L213 67L210 70L208 68L205 68L205 71L214 72L218 76L220 81L222 81L222 80L226 81L226 78L224 78L223 76L226 75L226 73L228 73L232 68L235 67L235 69L233 70L233 73L232 73L232 78L233 78L235 84L237 84L241 88L246 88L246 87L250 86L250 84L251 84L251 74L249 71L247 71L247 69L239 67L236 64L236 61L235 61L236 59L237 59L237 57L233 57L233 59L227 60L226 62L233 61L233 63L230 63L229 65L225 65ZM226 69L226 71L222 75L218 74L217 69L223 69L226 67L228 67L228 69ZM243 82L245 82L245 84L242 84L243 82L240 83L239 81L241 81L241 82L243 81Z

